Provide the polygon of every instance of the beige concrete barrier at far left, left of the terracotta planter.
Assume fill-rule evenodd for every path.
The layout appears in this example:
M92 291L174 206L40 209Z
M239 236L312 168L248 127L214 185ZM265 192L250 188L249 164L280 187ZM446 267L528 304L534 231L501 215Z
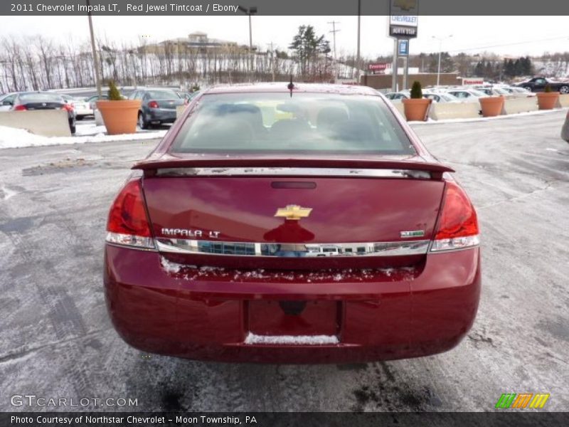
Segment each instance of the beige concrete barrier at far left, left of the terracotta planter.
M3 111L0 126L25 129L43 137L70 137L69 119L64 110Z

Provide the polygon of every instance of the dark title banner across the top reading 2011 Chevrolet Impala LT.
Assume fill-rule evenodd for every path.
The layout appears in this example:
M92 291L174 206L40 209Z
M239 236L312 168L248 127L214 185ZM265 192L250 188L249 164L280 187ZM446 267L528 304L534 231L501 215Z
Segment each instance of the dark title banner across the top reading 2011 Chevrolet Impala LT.
M201 15L256 14L265 16L354 16L388 15L390 3L398 14L423 16L560 16L569 15L569 1L456 1L456 0L2 0L0 15Z

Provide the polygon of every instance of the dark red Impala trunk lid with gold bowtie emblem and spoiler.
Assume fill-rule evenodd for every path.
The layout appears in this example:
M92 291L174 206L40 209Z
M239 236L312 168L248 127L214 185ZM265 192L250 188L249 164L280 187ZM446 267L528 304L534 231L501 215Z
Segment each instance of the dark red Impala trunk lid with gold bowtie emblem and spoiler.
M294 269L420 262L440 209L442 173L452 171L418 157L166 155L135 168L145 171L161 252L193 265Z

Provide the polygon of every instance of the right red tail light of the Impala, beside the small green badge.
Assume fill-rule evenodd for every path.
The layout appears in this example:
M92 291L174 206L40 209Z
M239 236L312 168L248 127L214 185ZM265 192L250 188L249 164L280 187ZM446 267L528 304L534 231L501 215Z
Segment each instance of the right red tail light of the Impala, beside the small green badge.
M445 200L431 251L451 251L480 243L478 218L462 188L452 181L445 186Z

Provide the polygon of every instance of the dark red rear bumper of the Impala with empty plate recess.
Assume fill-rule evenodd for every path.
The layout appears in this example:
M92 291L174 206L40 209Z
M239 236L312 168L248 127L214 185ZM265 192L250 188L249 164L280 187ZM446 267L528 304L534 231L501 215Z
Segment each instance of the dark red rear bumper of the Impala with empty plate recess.
M430 254L421 270L396 271L378 280L235 278L208 273L184 278L164 270L159 253L105 247L107 308L127 343L189 359L268 363L371 362L452 349L476 316L480 254L479 248ZM278 334L299 335L302 327L302 334L321 332L311 330L314 320L303 315L283 315L282 300L328 301L326 307L334 301L339 343L246 344L253 323L264 321L259 316L267 317L266 325L274 324L271 313L283 319L275 327ZM252 307L263 301L274 303L274 311L252 316Z

